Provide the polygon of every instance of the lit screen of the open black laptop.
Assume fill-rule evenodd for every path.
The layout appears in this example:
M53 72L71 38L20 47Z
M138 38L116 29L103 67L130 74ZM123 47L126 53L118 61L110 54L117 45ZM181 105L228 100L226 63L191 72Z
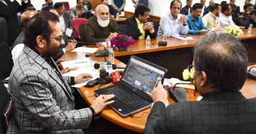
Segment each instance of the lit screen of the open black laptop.
M164 73L164 71L156 67L131 58L125 74L123 75L123 80L129 83L133 88L150 94L158 82L158 77L162 78Z

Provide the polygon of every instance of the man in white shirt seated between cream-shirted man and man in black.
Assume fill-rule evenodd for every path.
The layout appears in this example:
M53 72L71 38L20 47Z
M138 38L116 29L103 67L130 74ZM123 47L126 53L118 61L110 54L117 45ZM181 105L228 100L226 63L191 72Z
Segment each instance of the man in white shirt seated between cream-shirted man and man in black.
M224 3L221 5L221 14L219 14L220 26L221 27L238 27L238 25L234 24L232 19L232 8L229 4Z

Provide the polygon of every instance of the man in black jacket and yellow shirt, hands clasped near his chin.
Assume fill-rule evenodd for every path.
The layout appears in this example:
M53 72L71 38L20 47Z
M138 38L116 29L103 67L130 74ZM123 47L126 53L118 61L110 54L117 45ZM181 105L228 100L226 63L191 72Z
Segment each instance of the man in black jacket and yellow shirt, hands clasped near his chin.
M145 5L137 5L135 15L127 18L126 30L127 35L131 35L134 39L146 39L147 35L150 38L156 38L156 32L152 22L148 22L150 8Z

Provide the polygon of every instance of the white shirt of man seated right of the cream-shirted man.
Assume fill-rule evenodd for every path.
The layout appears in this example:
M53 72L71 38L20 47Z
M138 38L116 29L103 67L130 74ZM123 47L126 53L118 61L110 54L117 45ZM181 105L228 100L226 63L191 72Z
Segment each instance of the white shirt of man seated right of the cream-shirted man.
M233 20L232 20L232 16L226 16L225 14L223 14L221 12L221 14L219 14L219 20L220 20L220 26L221 27L229 27L229 26L234 26L234 27L238 27L238 25L234 24Z

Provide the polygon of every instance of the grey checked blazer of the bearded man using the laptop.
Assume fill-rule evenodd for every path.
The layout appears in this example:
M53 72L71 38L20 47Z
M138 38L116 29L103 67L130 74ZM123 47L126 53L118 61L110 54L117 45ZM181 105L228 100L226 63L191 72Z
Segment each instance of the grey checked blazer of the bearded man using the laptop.
M60 75L35 51L24 47L9 79L13 112L7 133L83 133L81 129L89 127L93 113L89 108L75 110L68 86L71 78L57 71Z

